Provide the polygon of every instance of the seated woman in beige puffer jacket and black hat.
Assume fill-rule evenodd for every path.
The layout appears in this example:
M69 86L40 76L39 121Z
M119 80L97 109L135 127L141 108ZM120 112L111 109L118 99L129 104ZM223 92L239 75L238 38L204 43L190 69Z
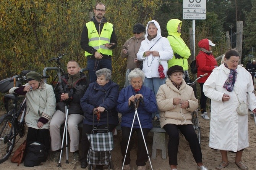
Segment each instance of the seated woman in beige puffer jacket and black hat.
M157 95L157 106L160 111L160 126L169 135L168 156L171 170L177 170L177 154L180 140L179 131L190 144L191 152L199 170L208 170L202 163L201 147L194 131L190 112L198 108L198 99L193 88L186 85L183 79L183 67L175 65L168 69L168 79L161 85Z

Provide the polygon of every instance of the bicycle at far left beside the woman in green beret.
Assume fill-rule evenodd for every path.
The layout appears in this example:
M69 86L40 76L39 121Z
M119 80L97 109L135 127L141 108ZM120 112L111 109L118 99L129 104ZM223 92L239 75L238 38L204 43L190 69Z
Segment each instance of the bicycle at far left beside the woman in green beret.
M20 82L20 84L27 82L26 76L23 75L16 75L9 81ZM0 164L8 159L15 144L25 135L26 98L15 93L8 93L4 96L4 105L6 114L0 117ZM16 141L18 135L20 138Z

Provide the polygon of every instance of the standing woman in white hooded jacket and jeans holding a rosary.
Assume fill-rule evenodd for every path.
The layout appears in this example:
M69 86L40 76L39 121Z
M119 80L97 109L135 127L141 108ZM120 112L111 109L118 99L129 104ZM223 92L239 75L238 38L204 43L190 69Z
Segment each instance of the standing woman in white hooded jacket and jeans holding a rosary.
M151 88L156 95L160 85L165 83L168 70L167 61L172 59L173 51L169 40L162 37L157 21L152 20L147 23L145 36L146 39L141 42L141 47L137 53L137 59L143 61L144 85ZM159 76L159 63L164 67L162 76ZM154 118L155 114L152 117ZM159 120L159 113L156 113L156 117Z

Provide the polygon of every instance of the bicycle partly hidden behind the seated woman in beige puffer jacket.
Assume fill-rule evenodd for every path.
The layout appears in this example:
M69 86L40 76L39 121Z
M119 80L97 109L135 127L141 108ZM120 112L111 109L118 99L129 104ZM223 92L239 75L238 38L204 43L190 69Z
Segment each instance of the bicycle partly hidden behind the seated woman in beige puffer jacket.
M187 83L187 85L190 85L191 87L193 87L193 85L196 84L198 79L201 79L202 77L208 75L207 73L204 75L200 75L196 80L194 80L194 82L191 83ZM196 131L196 135L198 137L198 141L199 144L201 144L201 130L200 130L200 122L199 122L199 118L198 118L198 111L201 111L200 109L196 109L195 111L191 112L191 116L192 116L192 123L193 123L193 127L194 130Z

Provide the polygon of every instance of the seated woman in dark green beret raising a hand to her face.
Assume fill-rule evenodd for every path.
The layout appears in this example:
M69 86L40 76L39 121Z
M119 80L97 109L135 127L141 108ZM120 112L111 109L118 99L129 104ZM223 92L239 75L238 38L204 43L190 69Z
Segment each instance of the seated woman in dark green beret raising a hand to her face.
M13 87L9 92L26 97L27 143L39 141L46 146L48 151L50 149L50 119L56 105L55 94L52 86L44 83L41 74L31 71L26 74L26 78L28 83L18 88Z

